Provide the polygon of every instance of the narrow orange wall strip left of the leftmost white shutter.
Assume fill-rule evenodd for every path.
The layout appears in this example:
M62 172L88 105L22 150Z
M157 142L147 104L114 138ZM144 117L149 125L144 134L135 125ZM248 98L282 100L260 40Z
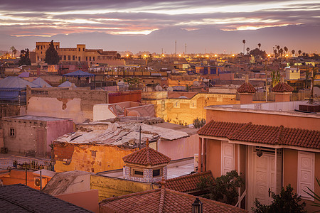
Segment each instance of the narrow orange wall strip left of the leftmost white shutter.
M214 178L221 176L221 141L207 139L207 170Z

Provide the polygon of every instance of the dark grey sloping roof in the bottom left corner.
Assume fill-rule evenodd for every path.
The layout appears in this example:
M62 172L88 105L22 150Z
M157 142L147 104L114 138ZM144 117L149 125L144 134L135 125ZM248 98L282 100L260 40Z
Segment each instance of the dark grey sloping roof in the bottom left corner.
M23 184L0 187L1 212L90 212Z

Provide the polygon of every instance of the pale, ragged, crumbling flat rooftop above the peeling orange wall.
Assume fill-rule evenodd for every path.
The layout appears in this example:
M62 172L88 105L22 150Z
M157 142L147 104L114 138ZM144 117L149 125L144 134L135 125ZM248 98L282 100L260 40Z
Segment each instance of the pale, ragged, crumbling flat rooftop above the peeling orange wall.
M154 141L157 138L173 141L178 138L188 137L188 133L159 126L141 124L139 121L107 122L95 121L90 124L82 124L82 131L68 133L55 141L60 143L94 143L110 146L126 146L137 148L139 145L139 128L141 127L141 141L146 138Z

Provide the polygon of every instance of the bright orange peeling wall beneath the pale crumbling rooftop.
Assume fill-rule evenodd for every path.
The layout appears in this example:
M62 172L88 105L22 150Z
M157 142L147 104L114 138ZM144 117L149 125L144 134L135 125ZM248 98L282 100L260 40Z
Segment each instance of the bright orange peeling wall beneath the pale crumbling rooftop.
M96 156L92 156L92 151ZM80 170L98 173L123 168L122 158L135 150L124 150L117 146L99 146L89 144L55 143L55 171L66 172Z

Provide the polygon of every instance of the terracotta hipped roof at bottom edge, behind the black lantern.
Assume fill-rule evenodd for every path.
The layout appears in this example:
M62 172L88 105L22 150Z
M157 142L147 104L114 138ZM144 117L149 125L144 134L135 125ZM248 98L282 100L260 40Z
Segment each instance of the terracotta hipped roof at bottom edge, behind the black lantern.
M199 197L203 212L245 212L244 209ZM191 212L196 196L166 188L110 197L100 202L100 212Z

